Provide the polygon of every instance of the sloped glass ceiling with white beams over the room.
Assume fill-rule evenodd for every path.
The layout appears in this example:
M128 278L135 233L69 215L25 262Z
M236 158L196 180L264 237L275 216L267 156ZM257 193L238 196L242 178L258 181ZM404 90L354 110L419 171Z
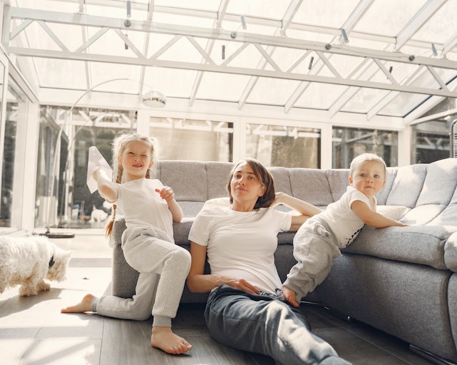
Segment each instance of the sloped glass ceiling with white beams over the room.
M141 86L98 90L151 85L189 108L273 106L328 120L356 113L369 125L405 123L457 96L457 0L5 3L3 46L38 98L130 78Z

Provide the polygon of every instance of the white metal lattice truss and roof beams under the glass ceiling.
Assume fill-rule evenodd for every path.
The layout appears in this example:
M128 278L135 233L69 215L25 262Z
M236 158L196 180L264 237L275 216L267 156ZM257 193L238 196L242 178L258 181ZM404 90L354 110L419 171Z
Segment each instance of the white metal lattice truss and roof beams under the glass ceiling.
M206 17L208 19L215 19L212 28L200 28L192 26L183 26L183 25L170 25L170 24L159 24L152 20L152 11L149 11L149 16L147 21L131 21L131 25L128 27L128 31L140 31L147 34L167 34L173 36L171 40L166 43L162 48L156 51L152 56L146 56L148 54L147 46L144 46L143 49L135 46L130 39L125 36L125 25L123 19L113 19L106 18L101 16L90 16L87 14L78 13L78 14L68 14L61 13L56 11L40 11L40 10L31 10L31 9L20 9L14 8L11 6L6 6L5 16L4 16L4 31L2 44L6 50L17 56L27 56L27 57L41 57L41 58L60 58L76 61L85 61L86 67L91 61L96 62L106 62L106 63L123 63L128 65L139 65L144 68L147 67L163 67L163 68L177 68L183 70L194 70L199 71L197 77L194 81L194 86L192 88L192 93L190 95L190 103L192 104L197 93L201 81L201 75L203 72L217 72L217 73L229 73L229 74L238 74L244 76L251 76L251 79L245 90L242 92L239 101L239 108L242 108L244 103L249 96L252 87L255 85L255 82L258 78L282 78L286 80L300 81L300 86L297 88L294 93L289 96L289 100L284 106L285 111L287 112L290 108L294 106L294 103L297 101L299 96L303 93L304 89L307 87L308 83L328 83L334 85L348 86L348 92L344 93L341 98L338 99L336 103L332 106L330 110L330 115L337 113L344 104L349 101L351 95L359 88L374 88L379 90L390 91L391 93L386 96L382 101L379 102L378 106L375 106L370 115L374 115L379 111L383 105L391 98L396 96L398 93L419 93L426 96L436 96L439 98L456 98L457 93L452 88L448 87L448 83L451 80L443 80L440 77L437 70L444 68L448 70L455 71L455 76L457 76L457 61L451 61L447 58L433 58L425 57L420 55L406 54L399 51L402 46L406 45L414 32L421 27L421 25L435 12L439 9L440 6L446 0L430 0L423 6L423 8L416 14L414 19L411 19L409 24L400 32L400 34L394 39L386 39L386 37L368 35L368 34L356 34L355 32L351 34L351 29L354 28L356 22L363 16L364 12L371 5L373 0L362 0L359 3L359 6L353 11L349 19L347 19L344 24L346 33L351 36L358 36L361 38L371 37L374 40L382 40L388 44L384 51L374 50L370 48L360 48L349 46L347 44L337 42L337 34L339 34L338 29L328 29L325 27L317 26L305 26L304 24L294 24L291 19L293 18L294 11L297 11L299 5L302 3L300 0L292 1L289 9L287 9L284 19L281 22L275 21L272 19L260 19L254 17L248 17L248 24L268 24L277 27L277 33L273 36L265 36L261 34L252 34L249 32L237 31L236 36L234 37L232 31L227 31L220 28L220 21L223 19L231 19L239 21L239 16L237 14L227 14L227 2L222 1L220 4L220 9L215 14L211 11L199 11L193 10L196 15L200 17ZM81 3L80 10L83 10L83 3ZM140 5L138 5L140 6ZM186 11L188 14L189 9L176 9L168 8L165 6L155 6L155 11L162 12L173 12L173 14L178 14L179 11ZM18 26L12 26L17 24ZM48 34L48 36L53 40L54 44L58 47L56 49L34 49L26 46L11 46L11 41L19 36L30 24L36 22L41 28ZM68 26L80 26L83 34L86 34L85 29L87 27L93 27L98 29L96 34L88 38L83 36L83 43L76 48L75 51L70 51L66 44L65 40L59 38L48 24L66 24ZM319 30L321 33L334 34L334 41L330 43L322 42L312 42L305 41L297 38L289 38L285 36L287 29L313 29L314 31ZM319 29L318 29L319 28ZM111 54L94 54L88 52L88 48L100 41L103 34L106 34L107 31L113 31L117 34L120 39L128 46L131 51L134 53L134 57L125 57L125 56L113 56ZM146 37L146 44L148 43L148 36ZM200 62L190 62L190 61L175 61L175 60L163 60L160 59L160 55L165 53L168 49L175 46L175 44L181 39L186 38L192 44L192 46L197 50L198 53L202 56ZM197 38L206 38L207 46L202 48L200 43L198 43ZM212 58L211 51L212 46L215 41L224 41L224 42L235 42L238 43L237 51L232 53L225 61L220 63ZM412 42L412 41L411 41ZM418 41L414 41L418 42ZM443 45L443 55L446 52L451 51L455 48L457 43L457 36L451 38L445 45ZM247 68L247 67L235 67L231 66L230 63L235 58L242 54L242 51L249 45L254 46L258 53L260 54L260 61L257 63L257 67ZM277 63L274 62L272 58L272 53L277 47L281 48L294 48L301 50L302 56L300 56L297 61L289 68L282 69ZM55 48L55 47L54 47ZM300 62L307 58L310 52L313 52L314 55L317 55L317 60L314 62L315 68L313 72L303 73L295 71L294 67L298 66ZM343 56L355 56L360 59L358 65L355 66L354 70L349 73L347 76L342 76L338 73L337 68L332 64L332 55L339 54ZM428 73L431 78L435 79L438 83L438 87L429 88L422 86L415 86L412 84L415 77L406 78L404 80L397 80L394 75L388 71L388 62L394 63L406 63L409 65L416 66L416 72L419 74ZM268 66L268 67L267 67ZM322 76L319 74L319 69L326 67L330 71L330 76ZM386 75L386 82L376 82L372 81L372 76L375 73L381 71ZM87 72L89 75L90 73ZM90 77L90 76L88 76ZM90 79L88 79L88 85L90 85Z

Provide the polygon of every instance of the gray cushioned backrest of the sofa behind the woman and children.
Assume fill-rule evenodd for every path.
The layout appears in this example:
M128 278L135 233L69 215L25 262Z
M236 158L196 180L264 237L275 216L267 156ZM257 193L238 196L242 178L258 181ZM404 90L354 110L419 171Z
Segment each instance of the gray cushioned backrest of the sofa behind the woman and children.
M185 217L195 217L203 204L227 197L232 163L158 161L155 178L169 185ZM349 169L269 168L277 191L325 207L338 200L349 183ZM411 208L402 218L420 225L456 225L457 158L430 164L387 168L386 185L377 195L379 205Z

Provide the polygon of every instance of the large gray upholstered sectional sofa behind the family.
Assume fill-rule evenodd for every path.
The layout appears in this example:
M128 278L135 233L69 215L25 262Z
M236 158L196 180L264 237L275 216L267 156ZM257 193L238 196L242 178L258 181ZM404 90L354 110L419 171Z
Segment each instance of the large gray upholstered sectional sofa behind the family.
M227 197L231 163L162 161L155 177L173 187L185 213L175 242L189 249L188 232L204 202ZM349 170L270 168L277 191L325 207L345 191ZM457 363L457 159L388 168L379 210L409 227L364 227L334 259L329 277L307 296L346 317L399 337L437 364ZM120 248L125 222L113 227L113 294L131 297L138 273ZM280 277L295 263L293 232L278 235ZM209 267L207 267L209 270ZM182 302L205 302L185 288Z

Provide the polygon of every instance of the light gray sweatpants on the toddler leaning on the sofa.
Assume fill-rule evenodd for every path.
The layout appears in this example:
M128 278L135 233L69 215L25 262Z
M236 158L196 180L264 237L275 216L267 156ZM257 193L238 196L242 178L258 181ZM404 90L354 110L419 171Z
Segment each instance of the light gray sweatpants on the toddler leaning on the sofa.
M284 282L300 302L302 297L321 284L330 272L334 257L341 256L339 245L327 223L309 218L294 237L294 258L297 260Z

